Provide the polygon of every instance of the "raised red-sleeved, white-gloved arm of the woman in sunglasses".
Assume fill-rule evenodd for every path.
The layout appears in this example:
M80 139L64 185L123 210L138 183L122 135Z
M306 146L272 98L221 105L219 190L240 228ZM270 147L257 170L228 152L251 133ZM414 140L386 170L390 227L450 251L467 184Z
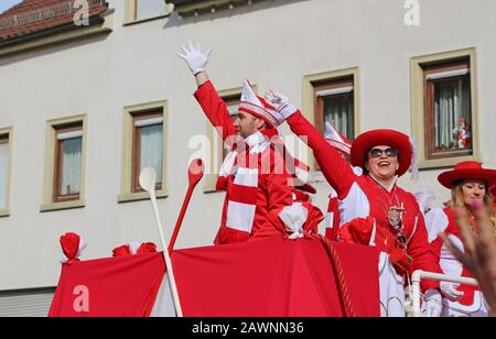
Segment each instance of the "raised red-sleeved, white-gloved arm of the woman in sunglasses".
M356 175L352 166L327 143L301 111L290 103L287 97L276 91L268 91L266 99L277 107L287 119L291 131L313 150L326 181L336 190L338 197L343 199L355 182Z

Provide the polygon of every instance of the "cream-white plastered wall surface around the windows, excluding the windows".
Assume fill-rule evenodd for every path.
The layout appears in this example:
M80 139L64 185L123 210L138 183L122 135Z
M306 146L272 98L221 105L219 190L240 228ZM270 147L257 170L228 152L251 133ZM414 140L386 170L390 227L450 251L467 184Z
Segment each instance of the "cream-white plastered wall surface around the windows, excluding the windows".
M122 108L168 100L169 198L160 201L171 229L186 190L187 142L206 132L192 97L195 83L179 47L188 40L213 48L208 72L218 89L254 79L260 91L274 87L302 103L302 77L359 66L362 130L411 131L409 61L413 56L475 47L479 138L486 166L496 167L496 3L494 0L419 1L421 25L403 23L400 0L262 1L198 18L162 19L122 26L123 1L115 8L107 36L0 58L0 128L13 125L11 217L0 218L0 289L55 285L58 237L75 231L87 239L84 259L108 256L131 240L154 241L148 201L117 204L120 181ZM45 122L88 114L84 209L41 214ZM412 112L413 113L413 112ZM288 130L284 129L285 133ZM435 177L421 182L448 198ZM325 185L316 201L326 209ZM183 225L180 248L208 245L222 211L222 194L197 189Z

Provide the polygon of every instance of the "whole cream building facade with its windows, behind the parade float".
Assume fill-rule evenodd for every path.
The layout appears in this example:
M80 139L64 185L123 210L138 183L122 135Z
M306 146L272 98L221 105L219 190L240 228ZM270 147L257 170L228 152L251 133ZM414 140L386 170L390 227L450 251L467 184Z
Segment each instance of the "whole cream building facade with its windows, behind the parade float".
M171 234L188 162L207 161L176 248L212 244L223 151L176 56L188 41L213 48L207 70L234 113L248 78L288 95L322 131L331 121L349 139L376 128L414 136L420 178L401 185L431 189L435 206L449 199L436 183L446 167L495 168L496 3L378 2L25 0L1 14L0 314L15 298L50 299L67 231L86 239L83 259L159 243L143 164L158 172ZM290 149L315 168L301 143ZM328 186L319 171L313 179L326 210Z

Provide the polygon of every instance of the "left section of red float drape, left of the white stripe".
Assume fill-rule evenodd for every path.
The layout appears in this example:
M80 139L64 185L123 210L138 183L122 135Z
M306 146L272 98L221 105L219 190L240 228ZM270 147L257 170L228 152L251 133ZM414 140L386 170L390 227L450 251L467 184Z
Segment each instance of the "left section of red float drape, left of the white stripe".
M62 265L48 317L149 316L164 270L162 253ZM88 311L76 310L80 303Z

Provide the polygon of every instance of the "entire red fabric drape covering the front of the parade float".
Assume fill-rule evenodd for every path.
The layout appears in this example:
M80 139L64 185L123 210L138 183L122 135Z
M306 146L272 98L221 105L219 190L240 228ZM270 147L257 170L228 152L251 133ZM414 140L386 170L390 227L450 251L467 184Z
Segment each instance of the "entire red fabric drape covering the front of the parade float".
M356 316L379 316L378 252L333 243ZM188 317L327 317L344 306L321 241L271 239L174 251L175 280ZM145 316L162 280L162 255L64 265L51 316ZM73 310L76 285L87 285L90 309ZM147 311L148 310L148 311Z

